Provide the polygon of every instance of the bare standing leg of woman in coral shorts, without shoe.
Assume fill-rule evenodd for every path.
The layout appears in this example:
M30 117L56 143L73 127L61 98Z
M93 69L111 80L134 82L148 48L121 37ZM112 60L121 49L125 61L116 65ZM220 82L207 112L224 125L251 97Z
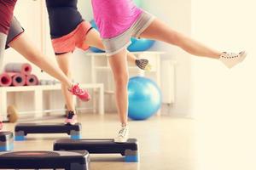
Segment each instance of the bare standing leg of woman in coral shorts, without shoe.
M70 59L71 59L72 53L67 53L67 54L58 54L56 55L57 62L61 68L61 71L64 72L64 74L71 80L72 75L71 75L71 65L70 65ZM68 111L74 111L74 105L73 105L73 95L70 94L70 92L67 90L67 86L63 83L61 83L61 90L62 94L65 97L66 100L66 105L67 105L67 110Z

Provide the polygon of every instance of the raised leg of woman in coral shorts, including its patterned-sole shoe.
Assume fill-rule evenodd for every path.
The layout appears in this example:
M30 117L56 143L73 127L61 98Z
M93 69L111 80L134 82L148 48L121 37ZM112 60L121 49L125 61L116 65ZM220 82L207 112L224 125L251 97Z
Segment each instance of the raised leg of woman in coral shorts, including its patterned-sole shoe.
M84 40L84 43L89 45L90 47L96 47L102 50L105 50L102 38L98 31L95 29L92 29L88 32L86 39ZM137 57L134 54L131 54L127 51L127 59L129 63L132 63L133 65L137 65L142 70L150 70L151 65L148 63L148 59L137 59Z

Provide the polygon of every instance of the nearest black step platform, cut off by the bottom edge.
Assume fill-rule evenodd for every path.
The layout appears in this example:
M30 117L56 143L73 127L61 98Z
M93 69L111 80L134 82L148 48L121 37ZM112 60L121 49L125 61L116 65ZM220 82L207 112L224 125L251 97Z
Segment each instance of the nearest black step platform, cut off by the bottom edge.
M87 151L13 151L0 152L0 169L88 170Z

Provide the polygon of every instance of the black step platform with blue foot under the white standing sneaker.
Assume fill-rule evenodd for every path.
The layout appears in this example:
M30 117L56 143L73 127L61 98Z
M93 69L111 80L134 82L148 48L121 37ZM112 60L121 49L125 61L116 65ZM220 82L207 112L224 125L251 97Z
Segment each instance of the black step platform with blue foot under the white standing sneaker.
M128 139L126 143L115 143L113 139L59 139L54 150L87 150L90 154L121 154L126 162L138 162L137 139Z

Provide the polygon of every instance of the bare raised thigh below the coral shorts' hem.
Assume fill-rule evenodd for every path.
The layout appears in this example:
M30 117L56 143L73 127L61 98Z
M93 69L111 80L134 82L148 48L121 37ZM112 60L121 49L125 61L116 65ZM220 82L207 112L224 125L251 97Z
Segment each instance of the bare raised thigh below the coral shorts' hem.
M90 47L104 49L100 33L94 28L87 33L84 43Z

